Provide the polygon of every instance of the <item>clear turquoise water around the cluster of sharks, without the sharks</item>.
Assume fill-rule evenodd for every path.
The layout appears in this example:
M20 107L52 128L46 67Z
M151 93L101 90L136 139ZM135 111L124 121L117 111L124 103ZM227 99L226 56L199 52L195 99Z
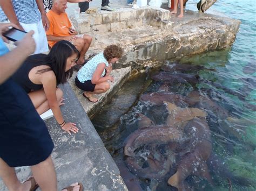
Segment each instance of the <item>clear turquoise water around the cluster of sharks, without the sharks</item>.
M186 9L197 10L197 1L188 1ZM199 76L203 80L211 80L234 93L244 95L244 99L227 93L223 88L217 88L207 82L197 84L202 95L211 91L211 99L229 111L235 121L208 118L212 131L212 151L218 156L219 164L227 168L231 175L218 174L217 169L211 169L214 184L198 176L189 176L186 182L194 190L256 190L256 186L245 186L242 182L235 182L231 176L240 176L247 180L256 181L256 111L251 109L256 105L256 5L255 1L219 0L207 13L226 15L241 20L240 30L231 48L204 54L185 57L180 60L192 62L193 65L204 65L214 68L200 70ZM172 62L172 61L169 61ZM245 70L247 68L247 70ZM156 73L152 71L152 73ZM252 79L254 81L246 81ZM148 88L144 88L149 84ZM136 87L136 88L134 88ZM146 86L147 87L147 86ZM157 91L158 85L143 74L137 79L131 79L123 89L113 97L102 112L92 122L95 125L106 148L117 164L124 160L123 146L127 136L137 127L137 114L143 113L153 121L161 121L161 108L138 101L140 93ZM129 89L129 92L127 92ZM191 86L173 86L174 93L186 95ZM137 101L136 101L137 100ZM252 104L252 105L250 105ZM224 122L219 128L215 121ZM210 123L211 122L211 123ZM219 128L219 129L218 129ZM145 148L146 149L146 148ZM138 178L144 190L176 190L167 186L167 179L174 172L158 180ZM158 185L158 186L156 186ZM154 187L156 186L156 187Z

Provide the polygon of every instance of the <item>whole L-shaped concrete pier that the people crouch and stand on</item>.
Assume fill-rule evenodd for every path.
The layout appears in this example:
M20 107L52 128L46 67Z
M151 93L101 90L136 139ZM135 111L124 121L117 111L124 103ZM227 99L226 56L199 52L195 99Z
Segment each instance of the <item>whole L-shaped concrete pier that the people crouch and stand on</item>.
M61 87L65 97L65 105L61 107L64 118L76 123L79 132L69 136L54 118L46 120L55 143L52 158L58 190L73 182L82 182L84 190L127 190L89 117L97 114L133 70L153 67L165 59L230 47L239 30L240 21L227 17L187 11L180 19L170 15L169 10L149 6L134 10L125 4L126 1L111 1L110 5L117 8L116 11L82 13L79 18L75 13L77 4L68 5L67 12L76 29L93 37L87 57L103 51L110 44L122 46L124 55L113 66L116 69L111 74L114 82L107 93L98 96L99 102L94 104L82 97L83 92L74 83L76 73ZM100 8L100 1L93 0L91 5ZM28 167L18 167L16 171L22 181L30 174ZM0 190L6 190L1 180Z

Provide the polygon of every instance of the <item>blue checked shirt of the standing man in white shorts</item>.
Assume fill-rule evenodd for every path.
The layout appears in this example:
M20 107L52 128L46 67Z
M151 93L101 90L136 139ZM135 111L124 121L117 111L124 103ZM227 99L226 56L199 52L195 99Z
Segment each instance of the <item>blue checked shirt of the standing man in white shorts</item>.
M36 0L12 0L12 5L19 23L31 24L41 20L41 13L38 10ZM0 22L7 20L8 18L0 7Z

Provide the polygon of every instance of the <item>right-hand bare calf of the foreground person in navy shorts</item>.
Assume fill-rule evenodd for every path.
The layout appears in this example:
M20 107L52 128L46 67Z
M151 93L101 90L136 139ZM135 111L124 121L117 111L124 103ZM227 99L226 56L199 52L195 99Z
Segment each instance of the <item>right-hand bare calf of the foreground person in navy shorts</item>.
M42 191L57 191L56 172L51 156L43 162L31 166L31 171Z

